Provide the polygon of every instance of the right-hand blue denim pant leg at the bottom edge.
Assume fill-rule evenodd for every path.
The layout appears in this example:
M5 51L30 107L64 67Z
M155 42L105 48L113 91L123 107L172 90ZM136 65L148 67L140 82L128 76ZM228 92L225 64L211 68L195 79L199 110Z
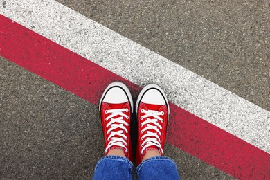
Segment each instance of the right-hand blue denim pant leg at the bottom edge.
M180 179L177 165L165 156L155 156L136 168L138 179Z

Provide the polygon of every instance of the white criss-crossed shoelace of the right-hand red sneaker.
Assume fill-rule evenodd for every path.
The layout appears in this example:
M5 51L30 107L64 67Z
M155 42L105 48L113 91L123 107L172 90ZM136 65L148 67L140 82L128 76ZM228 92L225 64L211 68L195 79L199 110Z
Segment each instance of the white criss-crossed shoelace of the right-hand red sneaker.
M151 145L155 145L156 147L159 147L159 150L161 150L161 153L163 153L163 149L160 143L161 139L159 138L159 135L161 136L160 130L162 129L161 125L159 125L159 120L161 121L161 123L163 123L163 118L159 116L163 115L164 112L153 111L153 110L146 111L145 109L141 109L141 113L145 113L145 115L141 116L141 120L143 120L143 118L147 118L147 120L141 123L141 127L143 127L143 125L146 125L146 127L141 130L141 133L146 131L146 134L141 137L141 140L145 138L145 141L143 141L143 143L141 144L141 147L143 147L143 149L141 150L141 154L143 154L143 151L147 147L150 147ZM150 119L148 117L154 117L154 118ZM154 132L149 131L150 129L154 130Z

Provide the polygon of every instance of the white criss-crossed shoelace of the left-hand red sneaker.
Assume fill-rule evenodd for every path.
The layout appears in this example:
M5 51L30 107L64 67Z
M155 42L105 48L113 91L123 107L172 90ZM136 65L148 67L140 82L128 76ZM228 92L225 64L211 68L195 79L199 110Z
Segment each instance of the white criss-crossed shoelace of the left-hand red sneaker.
M109 123L107 124L107 128L110 127L107 130L107 134L109 134L109 132L111 132L111 134L109 135L109 137L107 138L107 141L109 141L111 139L111 141L109 141L108 146L105 149L105 152L107 152L107 150L109 150L110 147L116 145L116 146L120 146L123 147L125 149L125 152L128 151L127 149L127 136L125 136L124 131L126 133L128 133L127 128L124 126L129 126L129 124L127 122L125 122L125 120L123 120L123 117L125 118L129 118L129 116L127 116L126 114L123 113L123 111L128 112L128 109L110 109L110 110L106 110L105 114L110 114L105 120L109 120ZM119 116L118 118L114 118L115 116ZM114 129L120 128L119 131L114 132ZM116 137L116 136L120 136L120 137Z

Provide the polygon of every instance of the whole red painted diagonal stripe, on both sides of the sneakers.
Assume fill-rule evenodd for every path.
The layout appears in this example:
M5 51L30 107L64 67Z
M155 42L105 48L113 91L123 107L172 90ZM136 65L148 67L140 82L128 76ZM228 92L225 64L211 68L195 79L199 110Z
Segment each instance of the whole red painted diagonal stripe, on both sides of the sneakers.
M141 87L0 15L0 55L98 105L107 84ZM90 45L89 45L90 46ZM168 143L239 179L269 179L270 154L170 104Z

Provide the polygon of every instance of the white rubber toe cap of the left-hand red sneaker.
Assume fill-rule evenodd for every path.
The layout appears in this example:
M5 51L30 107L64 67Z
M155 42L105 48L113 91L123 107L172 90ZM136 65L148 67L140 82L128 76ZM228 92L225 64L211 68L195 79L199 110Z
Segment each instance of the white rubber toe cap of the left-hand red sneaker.
M111 104L120 104L120 103L128 102L127 94L120 87L112 87L105 94L103 102L107 102Z

